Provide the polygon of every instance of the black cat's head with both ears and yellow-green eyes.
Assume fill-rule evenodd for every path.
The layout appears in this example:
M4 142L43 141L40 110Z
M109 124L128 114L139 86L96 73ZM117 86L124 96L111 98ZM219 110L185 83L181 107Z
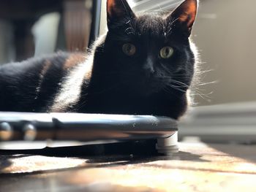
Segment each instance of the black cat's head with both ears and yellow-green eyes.
M186 0L165 16L136 16L126 0L108 0L109 72L136 94L185 93L194 74L189 36L196 13L197 0Z

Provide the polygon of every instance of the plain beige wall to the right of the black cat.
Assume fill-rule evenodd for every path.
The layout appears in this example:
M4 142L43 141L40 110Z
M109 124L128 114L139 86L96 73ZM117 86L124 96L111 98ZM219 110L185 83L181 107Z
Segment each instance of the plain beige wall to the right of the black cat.
M202 0L193 31L200 50L203 81L201 86L211 102L197 96L200 104L256 101L256 1Z

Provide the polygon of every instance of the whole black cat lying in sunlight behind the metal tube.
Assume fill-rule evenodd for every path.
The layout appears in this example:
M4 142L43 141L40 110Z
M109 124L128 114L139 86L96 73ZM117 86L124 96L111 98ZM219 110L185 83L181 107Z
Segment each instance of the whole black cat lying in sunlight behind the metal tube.
M165 115L179 118L195 71L189 35L197 1L169 15L136 16L108 0L108 33L82 53L0 67L0 110Z

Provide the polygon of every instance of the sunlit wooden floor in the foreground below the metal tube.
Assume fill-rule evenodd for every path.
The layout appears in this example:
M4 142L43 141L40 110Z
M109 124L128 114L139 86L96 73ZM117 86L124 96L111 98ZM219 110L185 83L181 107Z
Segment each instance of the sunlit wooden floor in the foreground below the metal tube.
M175 155L1 155L0 191L256 191L256 145L180 143Z

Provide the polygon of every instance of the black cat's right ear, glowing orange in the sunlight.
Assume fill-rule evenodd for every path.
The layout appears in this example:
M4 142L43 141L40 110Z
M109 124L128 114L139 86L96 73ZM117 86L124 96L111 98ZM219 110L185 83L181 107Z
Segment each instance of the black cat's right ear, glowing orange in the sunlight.
M167 17L167 19L171 19L172 23L189 37L196 15L197 0L185 0Z

